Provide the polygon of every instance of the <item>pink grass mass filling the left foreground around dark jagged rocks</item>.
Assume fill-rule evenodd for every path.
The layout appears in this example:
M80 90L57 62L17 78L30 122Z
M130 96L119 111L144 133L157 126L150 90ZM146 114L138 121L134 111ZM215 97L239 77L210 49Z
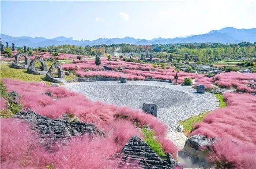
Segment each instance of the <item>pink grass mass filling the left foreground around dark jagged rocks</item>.
M26 124L16 119L1 119L1 147L4 147L1 150L1 168L41 169L52 163L58 169L115 168L117 162L107 159L120 152L133 135L141 137L135 124L150 126L156 132L156 136L161 138L159 140L164 150L173 155L177 153L174 144L163 139L166 126L153 116L139 110L90 101L82 94L70 92L64 87L50 87L41 83L26 83L11 79L3 79L3 81L8 91L17 91L22 96L21 103L25 108L31 108L38 114L50 118L60 118L64 113L74 114L80 121L94 123L106 133L106 137L95 137L92 141L87 137L74 138L67 147L49 154L36 144L38 140L28 132ZM52 97L46 96L44 93L47 91L52 92L53 97L57 99L53 100ZM116 119L116 115L128 117ZM15 151L21 152L12 154Z

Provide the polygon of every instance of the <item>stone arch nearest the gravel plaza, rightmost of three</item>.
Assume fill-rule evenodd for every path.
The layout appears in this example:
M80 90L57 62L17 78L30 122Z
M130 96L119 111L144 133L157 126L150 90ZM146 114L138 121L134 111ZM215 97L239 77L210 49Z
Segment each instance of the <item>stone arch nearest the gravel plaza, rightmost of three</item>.
M53 71L54 69L58 69L58 77L54 77ZM61 65L58 62L55 62L51 67L49 68L49 71L46 73L46 80L53 82L53 83L65 83L64 82L64 76L65 73L61 68Z

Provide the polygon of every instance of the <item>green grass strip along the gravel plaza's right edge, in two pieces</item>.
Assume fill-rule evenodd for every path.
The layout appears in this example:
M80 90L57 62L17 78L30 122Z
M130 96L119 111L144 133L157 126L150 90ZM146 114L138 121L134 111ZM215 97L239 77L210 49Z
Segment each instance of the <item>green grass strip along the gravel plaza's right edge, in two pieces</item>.
M225 98L222 94L215 94L215 97L219 100L219 108L225 108L227 106ZM179 122L180 125L183 125L183 133L188 136L189 133L192 132L193 126L198 123L202 122L203 119L210 113L211 111L208 112L203 112L200 115L193 116L189 119L186 119L185 121Z

